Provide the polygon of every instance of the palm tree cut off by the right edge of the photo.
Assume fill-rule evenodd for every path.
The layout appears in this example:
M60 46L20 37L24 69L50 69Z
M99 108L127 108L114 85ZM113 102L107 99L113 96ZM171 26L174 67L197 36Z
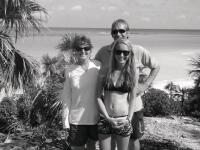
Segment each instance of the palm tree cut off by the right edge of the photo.
M200 55L191 59L191 66L193 69L189 71L189 74L194 77L195 87L200 87Z

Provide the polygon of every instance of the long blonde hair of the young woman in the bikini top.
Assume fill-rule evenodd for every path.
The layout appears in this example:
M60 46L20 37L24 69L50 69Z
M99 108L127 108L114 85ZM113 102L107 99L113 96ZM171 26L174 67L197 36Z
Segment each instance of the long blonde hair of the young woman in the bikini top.
M131 89L133 89L136 83L136 66L135 66L135 59L134 59L132 44L126 38L119 38L112 45L112 53L111 53L109 69L106 74L106 84L109 87L113 82L112 76L113 76L114 71L117 69L117 62L116 62L114 53L116 50L116 46L119 44L127 45L130 51L129 58L122 69L122 74L120 76L120 84L123 84L125 82L126 85L130 86Z

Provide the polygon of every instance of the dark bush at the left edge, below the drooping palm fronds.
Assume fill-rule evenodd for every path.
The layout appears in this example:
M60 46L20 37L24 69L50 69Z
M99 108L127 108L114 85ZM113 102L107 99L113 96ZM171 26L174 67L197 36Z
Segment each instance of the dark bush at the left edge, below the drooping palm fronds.
M11 124L17 120L17 107L14 100L4 97L0 103L0 132L11 132ZM13 130L13 128L12 128Z

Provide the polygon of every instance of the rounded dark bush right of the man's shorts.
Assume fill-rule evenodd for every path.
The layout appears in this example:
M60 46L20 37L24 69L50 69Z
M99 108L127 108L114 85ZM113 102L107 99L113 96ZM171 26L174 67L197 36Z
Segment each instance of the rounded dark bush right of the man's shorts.
M159 89L149 89L142 96L145 116L167 116L173 112L172 101L166 92Z

